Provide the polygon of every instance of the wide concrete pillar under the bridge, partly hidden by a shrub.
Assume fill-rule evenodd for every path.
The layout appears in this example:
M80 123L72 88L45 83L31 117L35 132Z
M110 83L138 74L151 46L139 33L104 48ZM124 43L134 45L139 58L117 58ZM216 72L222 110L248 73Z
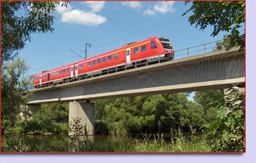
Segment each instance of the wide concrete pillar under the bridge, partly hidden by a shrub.
M86 103L82 102L69 102L69 127L74 124L73 119L80 119L80 125L84 128L86 127L87 135L94 135L94 124L95 124L95 105L90 101ZM83 130L83 133L85 131ZM69 135L73 133L69 132Z

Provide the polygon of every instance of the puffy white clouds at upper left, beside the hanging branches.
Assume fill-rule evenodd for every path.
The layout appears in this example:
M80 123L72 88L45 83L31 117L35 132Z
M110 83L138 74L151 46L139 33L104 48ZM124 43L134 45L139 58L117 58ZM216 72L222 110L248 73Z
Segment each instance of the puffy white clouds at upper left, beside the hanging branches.
M99 12L104 7L105 1L103 1L103 3L98 3L97 1L89 2L91 2L89 3L89 7L91 7L91 12L86 12L80 9L73 9L70 4L67 8L61 7L61 4L57 6L56 11L61 14L61 22L70 24L75 23L78 25L86 26L94 26L105 23L107 21L106 17L94 13Z

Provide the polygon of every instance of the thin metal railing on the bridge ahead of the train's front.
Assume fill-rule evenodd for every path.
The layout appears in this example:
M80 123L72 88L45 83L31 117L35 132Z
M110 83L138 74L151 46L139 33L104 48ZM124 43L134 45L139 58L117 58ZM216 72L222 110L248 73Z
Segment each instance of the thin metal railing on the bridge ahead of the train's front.
M206 52L213 52L214 48L219 47L220 45L217 45L217 42L224 42L225 39L219 39L216 41L211 41L211 42L207 42L204 44L198 44L196 46L193 47L187 47L184 49L178 49L175 50L175 59L179 59L182 57L191 57L193 55L201 55L201 54L205 54ZM225 47L222 44L222 49L225 49Z

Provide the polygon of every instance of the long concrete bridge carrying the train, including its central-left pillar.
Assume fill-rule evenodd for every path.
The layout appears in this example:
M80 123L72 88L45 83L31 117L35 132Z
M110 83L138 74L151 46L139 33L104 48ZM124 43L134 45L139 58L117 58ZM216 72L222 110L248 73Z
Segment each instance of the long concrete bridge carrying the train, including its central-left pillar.
M94 104L90 100L225 89L233 84L245 84L245 52L238 48L31 90L34 95L28 106L38 109L41 103L67 101L69 121L80 117L89 134L94 134Z

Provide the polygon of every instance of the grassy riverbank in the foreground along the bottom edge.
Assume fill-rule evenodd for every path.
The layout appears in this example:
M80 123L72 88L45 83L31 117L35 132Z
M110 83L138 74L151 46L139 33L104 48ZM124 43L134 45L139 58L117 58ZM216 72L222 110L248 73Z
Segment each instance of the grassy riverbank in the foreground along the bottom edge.
M204 133L191 132L189 137L173 131L140 135L5 135L1 138L2 152L213 152L214 143ZM169 140L170 139L170 140Z

